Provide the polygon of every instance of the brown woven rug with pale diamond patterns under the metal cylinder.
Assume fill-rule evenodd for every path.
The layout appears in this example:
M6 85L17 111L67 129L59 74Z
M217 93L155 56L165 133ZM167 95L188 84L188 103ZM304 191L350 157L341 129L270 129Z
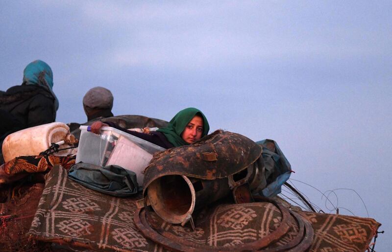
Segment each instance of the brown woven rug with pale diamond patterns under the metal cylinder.
M54 166L35 213L29 235L40 241L90 250L165 251L167 247L147 239L136 227L134 214L140 197L116 198L90 190L67 178ZM311 251L365 251L380 226L373 219L299 212L312 223ZM151 227L166 237L181 239L188 247L233 247L252 243L275 232L282 214L270 203L212 204L195 214L195 230L148 215ZM288 221L286 233L270 246L276 250L295 239L298 225Z

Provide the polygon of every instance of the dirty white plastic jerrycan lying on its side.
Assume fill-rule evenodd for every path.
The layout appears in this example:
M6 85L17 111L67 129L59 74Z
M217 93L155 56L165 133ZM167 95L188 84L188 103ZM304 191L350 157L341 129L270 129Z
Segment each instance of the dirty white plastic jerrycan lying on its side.
M2 154L5 162L21 156L38 156L41 152L54 147L53 156L68 156L73 154L75 138L70 134L70 128L61 122L52 122L21 131L5 137Z

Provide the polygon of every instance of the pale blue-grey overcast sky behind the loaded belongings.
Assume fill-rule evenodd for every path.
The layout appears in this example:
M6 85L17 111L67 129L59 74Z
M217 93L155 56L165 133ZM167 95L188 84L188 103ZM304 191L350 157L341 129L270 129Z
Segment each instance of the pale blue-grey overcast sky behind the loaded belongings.
M0 90L41 59L57 121L85 122L83 95L102 86L115 115L170 120L196 107L211 132L274 139L292 179L355 190L387 232L377 251L389 251L391 13L391 1L2 0ZM355 192L335 192L341 213L367 217Z

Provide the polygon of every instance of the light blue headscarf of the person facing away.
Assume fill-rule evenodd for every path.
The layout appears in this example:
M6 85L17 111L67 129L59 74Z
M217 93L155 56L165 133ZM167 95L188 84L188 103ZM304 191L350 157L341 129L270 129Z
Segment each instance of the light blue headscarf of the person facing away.
M35 60L28 64L23 71L24 85L38 85L44 87L54 97L54 107L58 109L58 99L54 94L53 88L53 72L49 65L42 60Z

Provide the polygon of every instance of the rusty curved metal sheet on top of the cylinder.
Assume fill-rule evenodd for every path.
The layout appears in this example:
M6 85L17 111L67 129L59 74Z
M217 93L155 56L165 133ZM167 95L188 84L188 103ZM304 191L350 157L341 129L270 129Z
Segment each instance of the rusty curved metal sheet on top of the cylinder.
M236 174L261 156L262 148L251 139L217 130L192 145L157 153L146 167L144 190L159 177L184 175L203 180Z

